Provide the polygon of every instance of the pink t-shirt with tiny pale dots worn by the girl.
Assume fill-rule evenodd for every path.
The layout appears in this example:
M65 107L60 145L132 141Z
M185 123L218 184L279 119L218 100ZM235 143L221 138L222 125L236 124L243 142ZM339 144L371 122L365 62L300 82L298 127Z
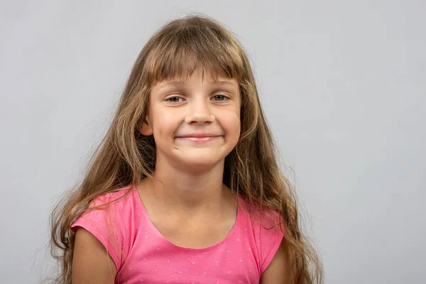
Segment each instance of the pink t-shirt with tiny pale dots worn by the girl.
M87 229L102 242L116 264L116 283L259 283L283 239L279 226L263 227L275 224L273 219L251 212L261 226L239 207L233 228L219 243L204 249L176 246L155 228L133 186L102 195L90 207L128 190L129 195L83 214L71 226ZM248 208L242 197L239 203Z

